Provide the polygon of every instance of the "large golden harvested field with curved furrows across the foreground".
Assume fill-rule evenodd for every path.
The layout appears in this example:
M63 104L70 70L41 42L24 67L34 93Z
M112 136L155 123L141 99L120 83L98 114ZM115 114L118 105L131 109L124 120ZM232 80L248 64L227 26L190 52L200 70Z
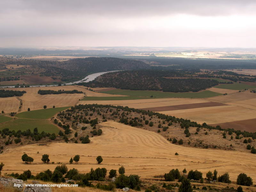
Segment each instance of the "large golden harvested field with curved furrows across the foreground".
M66 163L68 168L89 172L91 168L105 167L118 169L124 165L126 174L139 174L142 178L152 178L171 169L180 171L198 169L204 173L218 170L218 174L229 172L230 179L236 180L244 172L256 179L255 155L236 151L187 148L167 141L160 134L108 121L102 123L103 135L93 137L90 144L49 143L44 146L36 144L20 146L1 154L5 164L2 173L30 170L33 174L46 169L53 170L56 164L42 164L41 156L49 154L51 162ZM39 154L37 154L37 151ZM32 164L21 161L23 153L34 158ZM178 152L179 155L174 154ZM79 164L68 164L70 157L80 155ZM101 155L103 162L96 163Z

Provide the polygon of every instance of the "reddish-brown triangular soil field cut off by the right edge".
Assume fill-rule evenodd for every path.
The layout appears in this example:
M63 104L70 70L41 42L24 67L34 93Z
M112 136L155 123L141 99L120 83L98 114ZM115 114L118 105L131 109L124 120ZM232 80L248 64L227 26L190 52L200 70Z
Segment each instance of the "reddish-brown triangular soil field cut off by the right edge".
M233 128L235 130L256 132L256 119L246 119L241 121L232 121L227 123L210 124L212 126L220 125L223 129Z

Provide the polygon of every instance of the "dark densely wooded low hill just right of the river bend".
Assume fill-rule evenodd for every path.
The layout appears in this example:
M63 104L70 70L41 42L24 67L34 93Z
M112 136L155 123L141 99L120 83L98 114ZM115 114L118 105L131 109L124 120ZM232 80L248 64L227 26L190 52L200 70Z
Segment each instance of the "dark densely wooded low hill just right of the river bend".
M118 71L103 74L88 83L79 83L88 87L115 87L127 90L152 90L164 92L198 92L218 85L216 80L184 77L186 73L162 70Z

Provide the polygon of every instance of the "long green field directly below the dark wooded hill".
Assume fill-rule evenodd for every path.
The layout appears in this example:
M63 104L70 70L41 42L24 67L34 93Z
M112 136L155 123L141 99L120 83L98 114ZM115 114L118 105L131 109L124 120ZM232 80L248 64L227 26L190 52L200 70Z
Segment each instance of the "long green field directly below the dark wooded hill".
M136 96L137 98L140 97L140 99L150 99L151 95L153 96L153 98L151 98L151 99L170 98L170 97L205 98L205 97L214 97L214 96L221 95L220 93L216 93L216 92L212 92L212 91L173 93L173 92L161 92L161 91L133 91L133 90L123 90L123 89L110 90L110 91L106 91L104 93ZM141 98L141 97L144 97L144 98ZM121 99L125 100L125 98L121 98ZM107 99L105 99L105 100L107 100ZM115 100L115 99L113 98L113 100Z

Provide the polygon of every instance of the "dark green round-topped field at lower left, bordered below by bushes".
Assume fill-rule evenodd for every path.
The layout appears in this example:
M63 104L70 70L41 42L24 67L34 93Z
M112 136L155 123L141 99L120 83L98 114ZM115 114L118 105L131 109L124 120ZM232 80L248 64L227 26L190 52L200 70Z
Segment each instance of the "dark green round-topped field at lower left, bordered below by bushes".
M0 130L4 128L9 128L14 131L26 131L30 129L31 131L37 127L38 132L46 132L46 133L55 133L59 132L57 126L51 124L48 120L33 120L33 119L16 119L14 121L10 121L8 123L0 124Z

